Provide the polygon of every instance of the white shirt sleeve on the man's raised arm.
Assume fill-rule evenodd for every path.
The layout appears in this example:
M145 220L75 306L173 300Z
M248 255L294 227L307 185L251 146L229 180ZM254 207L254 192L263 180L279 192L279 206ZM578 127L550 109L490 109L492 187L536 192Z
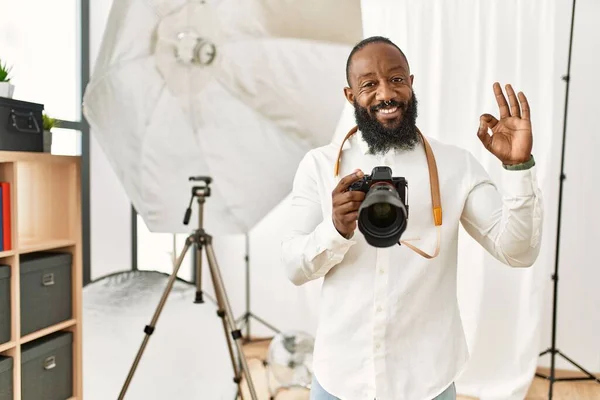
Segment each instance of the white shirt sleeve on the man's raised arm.
M504 264L531 266L539 255L543 223L537 167L503 170L500 193L474 157L468 165L473 180L461 216L463 227Z

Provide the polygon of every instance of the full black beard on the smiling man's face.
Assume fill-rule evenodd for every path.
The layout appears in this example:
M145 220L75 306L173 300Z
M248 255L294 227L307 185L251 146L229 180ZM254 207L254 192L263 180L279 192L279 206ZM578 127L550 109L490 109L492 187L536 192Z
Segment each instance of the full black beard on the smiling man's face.
M402 119L397 126L386 127L372 115L383 106L383 103L370 108L369 111L354 100L354 117L365 142L372 154L385 154L390 149L412 150L419 141L417 131L417 98L413 92L407 103L392 100L387 105L399 107Z

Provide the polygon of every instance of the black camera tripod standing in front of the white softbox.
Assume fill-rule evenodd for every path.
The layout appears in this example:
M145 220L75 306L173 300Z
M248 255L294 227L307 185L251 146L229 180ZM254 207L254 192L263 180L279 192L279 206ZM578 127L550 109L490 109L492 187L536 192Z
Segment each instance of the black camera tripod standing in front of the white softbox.
M175 263L173 272L172 272L171 276L169 277L167 287L165 288L165 291L163 292L160 302L158 303L158 307L156 308L156 311L154 312L152 321L150 322L149 325L146 325L144 327L144 333L146 334L146 336L144 336L142 345L140 346L140 349L137 353L137 356L135 357L135 360L133 362L131 370L129 371L127 379L125 380L125 384L123 385L121 394L119 395L119 400L123 400L123 398L125 397L127 388L129 387L131 380L133 378L133 375L135 373L135 370L140 362L140 359L142 358L142 354L144 352L144 349L146 348L146 345L148 344L150 335L152 335L152 333L154 333L154 329L156 327L156 322L158 321L158 317L160 316L160 313L162 312L162 309L167 301L167 297L168 297L171 289L173 288L173 284L175 282L175 279L177 278L177 272L179 271L179 268L181 267L181 264L185 258L187 251L189 250L189 248L192 245L194 245L196 247L196 257L195 257L196 258L196 260L195 260L196 261L196 298L195 298L194 302L195 303L203 303L204 302L202 299L201 272L202 272L202 249L205 248L206 249L206 257L208 259L209 270L210 270L210 274L212 277L215 296L216 296L217 315L221 318L221 320L223 322L223 330L225 333L225 339L227 341L227 347L229 349L229 355L231 357L231 364L233 366L233 371L234 371L233 381L238 385L238 392L239 392L240 396L243 397L242 389L241 389L242 379L241 379L240 371L238 369L238 365L236 364L235 356L233 353L232 341L235 343L235 346L237 349L241 370L244 374L244 377L246 378L246 382L248 384L248 389L250 391L250 396L251 396L252 400L258 399L256 397L256 391L254 389L252 377L250 376L250 370L248 368L248 363L246 361L246 357L244 356L243 349L242 349L242 343L241 343L242 334L241 334L240 330L236 327L235 320L233 317L233 312L231 311L229 299L227 298L227 293L225 291L223 278L221 276L221 272L219 270L219 266L217 264L217 259L215 257L215 253L213 250L212 236L207 234L203 228L204 202L206 200L206 197L210 196L209 184L212 182L212 178L199 176L199 177L190 177L189 179L190 179L190 181L204 182L203 186L194 186L192 188L192 197L190 199L190 204L185 211L185 217L183 220L183 223L185 225L187 225L189 223L190 216L192 214L192 202L193 202L194 198L197 198L198 209L199 209L198 210L198 229L196 229L192 234L190 234L187 237L187 239L185 241L185 245L183 247L183 250L182 250L181 254L179 255L179 257L177 258L177 262ZM229 334L231 334L231 337L229 336Z

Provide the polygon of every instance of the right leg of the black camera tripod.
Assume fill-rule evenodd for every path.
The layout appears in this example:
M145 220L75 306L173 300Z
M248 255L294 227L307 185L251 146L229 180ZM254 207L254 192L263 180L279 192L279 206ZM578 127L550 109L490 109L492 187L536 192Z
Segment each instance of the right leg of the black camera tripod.
M218 298L220 299L223 309L225 311L225 316L227 318L227 322L230 324L229 328L231 329L231 337L235 341L235 345L237 347L238 356L241 361L242 371L246 376L246 382L248 384L248 389L250 391L250 397L252 400L257 400L256 390L254 389L254 383L252 382L252 377L250 376L250 369L248 368L248 362L246 361L246 357L244 356L244 351L242 349L242 333L235 326L235 318L233 317L233 312L231 311L231 305L229 304L229 299L227 298L227 293L225 292L225 286L223 284L223 278L221 277L221 272L219 271L219 267L217 265L217 259L215 257L215 252L212 247L210 236L205 236L207 241L206 243L206 255L208 257L208 264L211 270L211 275L213 276L213 284L215 285L215 292L219 293ZM229 340L229 338L228 338ZM235 370L234 363L234 370Z

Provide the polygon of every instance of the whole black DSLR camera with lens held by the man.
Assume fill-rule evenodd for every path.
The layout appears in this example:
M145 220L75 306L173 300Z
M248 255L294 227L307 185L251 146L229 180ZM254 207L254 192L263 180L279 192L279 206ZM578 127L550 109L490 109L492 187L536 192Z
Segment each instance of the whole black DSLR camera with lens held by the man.
M389 167L375 167L348 190L366 193L358 209L358 229L374 247L390 247L400 241L408 220L408 182L393 177Z

